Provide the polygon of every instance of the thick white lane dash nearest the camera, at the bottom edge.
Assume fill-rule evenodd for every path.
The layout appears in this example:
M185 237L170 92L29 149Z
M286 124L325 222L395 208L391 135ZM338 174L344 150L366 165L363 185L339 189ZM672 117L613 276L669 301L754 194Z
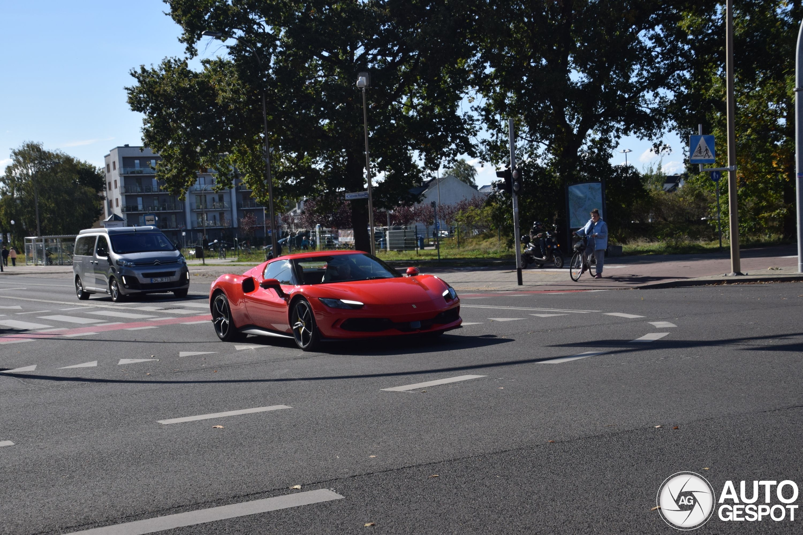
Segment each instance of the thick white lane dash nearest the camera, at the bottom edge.
M263 500L221 505L210 509L199 509L198 511L188 511L187 513L109 525L104 528L85 529L84 531L72 532L71 535L144 535L145 533L165 531L165 529L176 529L189 525L226 520L226 518L246 517L257 513L300 507L301 505L318 504L322 501L342 500L344 497L328 488L319 488L285 496L264 498Z

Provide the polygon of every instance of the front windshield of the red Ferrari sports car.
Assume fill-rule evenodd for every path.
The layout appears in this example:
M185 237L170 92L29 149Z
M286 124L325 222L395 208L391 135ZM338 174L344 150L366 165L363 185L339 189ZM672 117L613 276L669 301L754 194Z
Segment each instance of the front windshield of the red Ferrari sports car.
M371 281L402 276L379 258L362 253L296 258L293 264L301 284Z

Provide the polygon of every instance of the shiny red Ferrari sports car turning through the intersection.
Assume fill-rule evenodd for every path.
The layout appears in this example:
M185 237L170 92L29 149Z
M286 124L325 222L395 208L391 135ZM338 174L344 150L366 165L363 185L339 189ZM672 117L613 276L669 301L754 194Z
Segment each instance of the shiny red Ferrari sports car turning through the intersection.
M304 351L327 340L437 336L463 322L446 282L416 268L403 276L361 251L291 254L222 275L212 284L210 308L223 341L279 336Z

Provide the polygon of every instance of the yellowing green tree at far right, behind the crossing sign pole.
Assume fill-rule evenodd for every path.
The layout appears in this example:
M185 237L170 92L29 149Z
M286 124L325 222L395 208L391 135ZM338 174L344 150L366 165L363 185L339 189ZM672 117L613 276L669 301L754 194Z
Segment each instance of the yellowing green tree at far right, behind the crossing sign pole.
M740 232L748 236L777 233L793 237L795 221L794 59L801 2L734 2L736 165ZM671 114L682 139L703 124L717 142L717 166L727 164L725 106L725 12L721 4L702 2L684 12L675 38L684 40L687 70L675 87ZM697 173L696 166L689 172ZM707 173L693 176L713 198ZM725 196L722 217L728 231L728 180L719 181ZM715 203L708 216L715 220Z

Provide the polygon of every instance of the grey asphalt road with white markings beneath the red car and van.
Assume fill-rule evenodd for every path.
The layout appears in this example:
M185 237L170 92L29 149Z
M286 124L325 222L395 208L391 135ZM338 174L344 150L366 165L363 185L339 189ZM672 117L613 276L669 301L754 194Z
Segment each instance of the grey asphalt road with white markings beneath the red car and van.
M801 283L464 293L436 342L320 353L219 342L206 290L0 278L0 533L675 533L675 472L803 487Z

